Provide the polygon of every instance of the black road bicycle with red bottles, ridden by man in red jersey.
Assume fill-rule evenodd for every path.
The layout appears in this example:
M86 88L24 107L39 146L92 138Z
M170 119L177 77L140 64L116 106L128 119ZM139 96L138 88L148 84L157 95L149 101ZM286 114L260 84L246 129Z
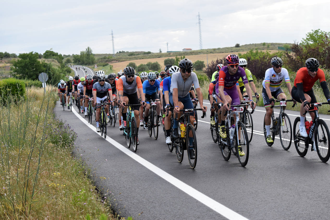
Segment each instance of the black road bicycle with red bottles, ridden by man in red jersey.
M330 157L330 151L329 151L329 144L330 144L330 133L329 128L324 120L319 118L318 115L318 107L321 105L327 105L329 103L322 102L322 103L311 103L311 107L314 107L313 110L315 112L314 120L311 121L312 123L309 123L306 121L305 117L305 125L308 125L306 127L306 131L308 136L302 137L299 132L299 124L300 124L300 117L297 117L294 120L293 123L293 141L294 145L296 147L296 150L298 154L301 157L304 157L307 154L307 150L309 147L309 144L313 145L313 142L315 141L316 146L316 152L318 157L322 162L327 162ZM330 112L330 110L328 110ZM304 113L306 114L307 111ZM313 147L312 147L313 149Z

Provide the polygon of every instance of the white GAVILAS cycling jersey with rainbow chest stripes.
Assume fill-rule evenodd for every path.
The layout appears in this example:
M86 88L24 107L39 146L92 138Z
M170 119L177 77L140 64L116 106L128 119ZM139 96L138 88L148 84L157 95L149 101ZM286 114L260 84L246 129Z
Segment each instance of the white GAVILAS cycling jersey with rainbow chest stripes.
M281 88L283 79L285 83L290 82L289 73L285 68L281 69L281 73L276 73L274 68L269 68L265 72L265 79L262 81L262 86L266 88L265 84L270 83L270 91L275 92Z

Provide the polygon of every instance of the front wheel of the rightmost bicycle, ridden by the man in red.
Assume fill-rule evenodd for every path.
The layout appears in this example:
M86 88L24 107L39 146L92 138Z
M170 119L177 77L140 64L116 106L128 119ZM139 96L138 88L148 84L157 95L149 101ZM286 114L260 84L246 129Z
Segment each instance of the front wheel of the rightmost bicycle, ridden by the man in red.
M322 162L327 162L330 157L330 133L327 124L322 119L317 120L317 130L315 132L315 145L318 157Z

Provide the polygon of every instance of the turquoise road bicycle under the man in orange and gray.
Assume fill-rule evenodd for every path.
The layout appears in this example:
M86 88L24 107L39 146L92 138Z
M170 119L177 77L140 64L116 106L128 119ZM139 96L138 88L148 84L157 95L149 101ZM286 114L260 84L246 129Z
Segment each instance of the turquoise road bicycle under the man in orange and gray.
M133 142L133 150L136 152L138 149L138 128L136 125L136 120L134 116L134 110L132 110L133 106L141 106L141 104L134 104L134 105L125 105L128 106L127 108L127 121L126 121L126 128L123 129L126 143L128 148L131 147L131 142ZM123 110L121 111L123 112Z

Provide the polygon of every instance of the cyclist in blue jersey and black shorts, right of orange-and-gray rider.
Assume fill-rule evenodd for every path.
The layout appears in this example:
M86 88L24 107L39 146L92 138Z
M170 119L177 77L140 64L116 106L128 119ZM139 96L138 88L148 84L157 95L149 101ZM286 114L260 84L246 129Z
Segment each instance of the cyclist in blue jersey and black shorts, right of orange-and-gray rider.
M156 100L160 101L158 91L160 82L156 80L157 76L154 72L149 72L148 80L144 81L142 84L143 93L146 97L146 100ZM157 104L157 116L159 117L160 113L160 102L156 102ZM147 101L147 107L145 110L145 128L148 127L148 118L149 118L149 110L150 110L150 102Z

